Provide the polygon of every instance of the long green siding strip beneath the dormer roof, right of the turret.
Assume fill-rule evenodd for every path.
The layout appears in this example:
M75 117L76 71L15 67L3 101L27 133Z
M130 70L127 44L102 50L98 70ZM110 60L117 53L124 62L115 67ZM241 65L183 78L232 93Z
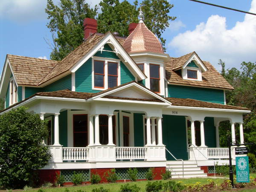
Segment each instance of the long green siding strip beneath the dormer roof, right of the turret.
M219 89L168 85L168 97L224 104L224 91Z

